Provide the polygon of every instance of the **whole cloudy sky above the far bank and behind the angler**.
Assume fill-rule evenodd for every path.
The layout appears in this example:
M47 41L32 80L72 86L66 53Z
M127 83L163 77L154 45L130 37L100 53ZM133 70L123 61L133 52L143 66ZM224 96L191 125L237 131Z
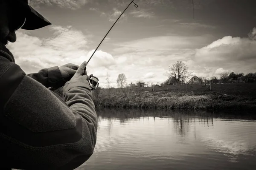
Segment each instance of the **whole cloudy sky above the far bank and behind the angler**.
M29 0L52 25L18 30L7 48L26 74L88 61L130 0ZM198 77L256 72L255 0L134 0L87 65L105 87L160 84L169 65L183 61Z

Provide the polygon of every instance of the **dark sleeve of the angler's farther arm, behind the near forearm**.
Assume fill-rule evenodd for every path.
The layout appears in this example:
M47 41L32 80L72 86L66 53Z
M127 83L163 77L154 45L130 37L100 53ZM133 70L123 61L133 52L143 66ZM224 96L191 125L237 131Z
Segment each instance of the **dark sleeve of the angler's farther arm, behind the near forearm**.
M44 68L38 71L38 73L27 74L27 76L40 82L46 88L53 87L57 89L62 87L66 82L58 66Z

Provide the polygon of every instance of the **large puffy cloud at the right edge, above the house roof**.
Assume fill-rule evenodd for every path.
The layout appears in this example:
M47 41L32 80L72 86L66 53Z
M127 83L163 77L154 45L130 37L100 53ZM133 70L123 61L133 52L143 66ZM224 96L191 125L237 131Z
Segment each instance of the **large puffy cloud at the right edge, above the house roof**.
M255 28L253 29L255 30ZM251 36L255 33L252 31ZM256 40L226 36L211 44L196 49L195 62L207 67L217 65L224 69L255 71Z

